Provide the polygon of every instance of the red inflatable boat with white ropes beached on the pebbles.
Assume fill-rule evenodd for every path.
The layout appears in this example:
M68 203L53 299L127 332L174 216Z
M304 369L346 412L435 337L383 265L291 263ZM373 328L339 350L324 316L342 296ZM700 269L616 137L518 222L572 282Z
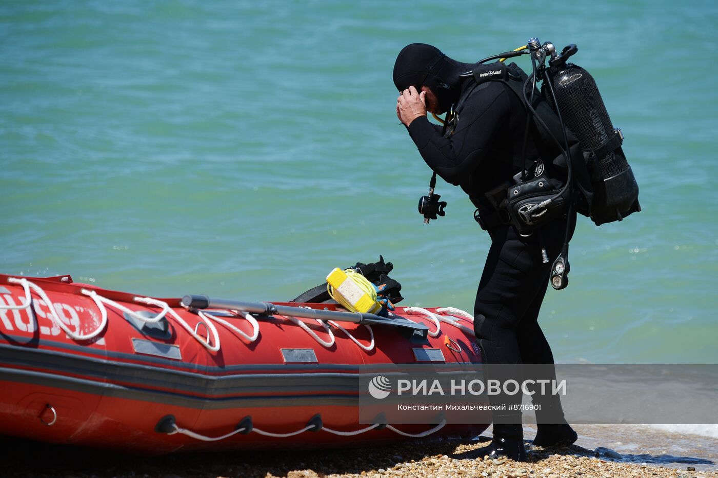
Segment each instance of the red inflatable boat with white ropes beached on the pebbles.
M472 317L155 299L0 275L0 434L141 453L348 446L486 426L359 423L361 367L480 362ZM487 417L489 419L489 417Z

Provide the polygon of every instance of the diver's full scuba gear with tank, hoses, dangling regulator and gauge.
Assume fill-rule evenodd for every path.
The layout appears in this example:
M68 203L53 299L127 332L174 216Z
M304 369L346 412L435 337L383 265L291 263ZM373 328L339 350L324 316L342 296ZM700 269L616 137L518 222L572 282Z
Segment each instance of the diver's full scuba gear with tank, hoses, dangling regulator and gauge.
M531 234L556 217L572 217L574 210L591 217L596 225L620 221L640 211L638 184L621 148L623 133L613 128L593 77L567 62L577 51L575 44L569 44L556 55L551 42L541 44L531 38L525 46L484 58L460 75L475 85L464 88L452 110L457 111L477 85L503 82L526 108L527 135L533 135L540 155L534 161L515 154L513 166L518 174L512 183L499 184L485 192L485 197L471 197L477 207L474 217L483 229L490 227L485 217L486 204L495 210L491 222L513 225L522 235ZM503 63L520 55L531 55L530 76L515 63ZM487 63L491 60L498 62ZM539 81L540 92L536 89ZM445 136L452 134L457 121L449 111L444 121ZM439 196L433 194L435 182L436 172L429 183L429 196L419 202L424 222L436 219L437 213L444 215L446 203L439 203ZM434 207L423 210L422 204L432 204L432 195ZM440 212L430 214L437 210ZM569 230L572 228L567 227L561 253L551 266L554 289L564 289L568 284ZM544 261L548 261L545 253Z

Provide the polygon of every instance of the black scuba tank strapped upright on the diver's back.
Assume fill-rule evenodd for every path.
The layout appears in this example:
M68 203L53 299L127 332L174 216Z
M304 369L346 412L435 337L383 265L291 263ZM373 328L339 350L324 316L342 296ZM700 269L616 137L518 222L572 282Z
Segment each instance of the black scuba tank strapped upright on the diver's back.
M581 143L591 178L592 202L579 200L577 211L601 225L640 211L638 184L621 149L623 133L613 128L595 80L582 67L567 63L577 51L575 44L569 44L561 55L549 60L547 70L558 110ZM541 95L555 110L549 93L542 85Z

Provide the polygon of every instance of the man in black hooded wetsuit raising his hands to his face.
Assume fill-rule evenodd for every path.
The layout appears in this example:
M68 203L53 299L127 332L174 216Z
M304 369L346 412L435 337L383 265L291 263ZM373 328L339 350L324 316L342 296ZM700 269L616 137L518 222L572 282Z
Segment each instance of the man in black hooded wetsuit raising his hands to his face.
M573 233L575 212L528 235L520 235L505 220L495 195L497 191L505 195L505 184L511 184L518 172L517 158L521 164L533 161L538 172L540 149L531 135L527 137L528 113L521 100L505 83L477 85L462 76L474 66L452 60L429 44L407 45L393 69L399 91L396 115L432 171L469 195L477 207L477 222L490 235L474 306L474 332L482 362L547 364L555 378L554 357L538 325L538 311L549 283L551 261L559 256L564 238ZM448 111L446 124L430 123L427 111L435 115ZM521 403L521 394L501 399ZM563 419L557 395L536 394L533 401L541 404L541 411L536 411L538 433L533 444L567 446L576 441L576 432ZM558 423L556 416L560 417ZM493 413L493 423L491 444L461 457L505 455L525 461L521 412Z

